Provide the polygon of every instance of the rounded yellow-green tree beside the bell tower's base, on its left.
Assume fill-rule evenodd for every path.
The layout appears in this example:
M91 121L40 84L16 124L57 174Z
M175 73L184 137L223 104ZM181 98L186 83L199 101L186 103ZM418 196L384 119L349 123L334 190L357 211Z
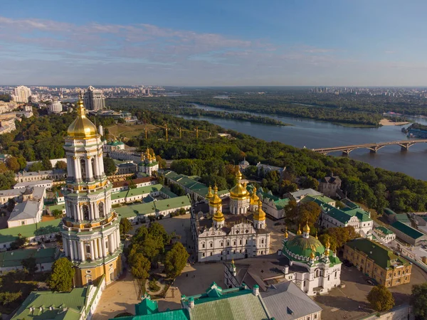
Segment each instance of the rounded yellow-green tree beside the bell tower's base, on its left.
M52 273L47 284L53 291L69 292L73 288L73 278L75 270L73 263L63 257L52 264Z

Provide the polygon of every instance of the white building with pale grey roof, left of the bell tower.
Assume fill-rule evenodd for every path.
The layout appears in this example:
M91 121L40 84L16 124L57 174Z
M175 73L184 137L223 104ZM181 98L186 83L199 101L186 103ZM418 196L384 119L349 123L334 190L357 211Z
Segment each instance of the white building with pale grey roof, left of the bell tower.
M14 228L20 225L32 225L33 223L41 222L45 197L46 187L33 187L27 200L18 203L12 210L11 216L7 220L8 227Z

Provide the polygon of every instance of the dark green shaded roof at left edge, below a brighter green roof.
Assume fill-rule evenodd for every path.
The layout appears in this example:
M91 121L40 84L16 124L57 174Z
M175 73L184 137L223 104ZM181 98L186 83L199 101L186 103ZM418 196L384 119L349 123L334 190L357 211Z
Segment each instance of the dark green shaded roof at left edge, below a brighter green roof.
M36 263L48 263L55 261L56 247L45 249L23 249L0 252L0 267L19 267L21 261L33 257Z

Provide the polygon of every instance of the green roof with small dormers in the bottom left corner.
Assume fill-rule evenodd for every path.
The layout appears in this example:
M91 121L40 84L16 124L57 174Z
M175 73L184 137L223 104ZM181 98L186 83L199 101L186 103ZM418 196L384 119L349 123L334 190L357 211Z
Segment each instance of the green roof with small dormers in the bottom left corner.
M75 288L71 292L31 292L11 320L78 320L85 307L87 294L87 287ZM33 307L34 311L30 311L30 307ZM40 310L41 307L43 311ZM63 311L63 308L67 310Z

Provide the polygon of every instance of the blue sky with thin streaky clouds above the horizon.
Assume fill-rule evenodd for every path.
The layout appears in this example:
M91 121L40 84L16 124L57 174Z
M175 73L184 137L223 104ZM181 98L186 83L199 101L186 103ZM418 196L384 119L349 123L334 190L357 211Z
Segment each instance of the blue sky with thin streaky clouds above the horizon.
M14 0L1 85L427 86L425 0Z

